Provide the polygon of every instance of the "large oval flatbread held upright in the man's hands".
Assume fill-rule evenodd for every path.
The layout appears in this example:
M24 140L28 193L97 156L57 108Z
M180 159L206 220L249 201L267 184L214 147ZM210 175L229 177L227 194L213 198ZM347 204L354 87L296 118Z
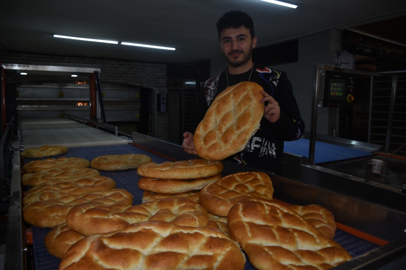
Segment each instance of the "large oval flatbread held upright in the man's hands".
M261 90L256 83L241 82L215 98L193 137L199 157L223 160L245 148L263 117Z

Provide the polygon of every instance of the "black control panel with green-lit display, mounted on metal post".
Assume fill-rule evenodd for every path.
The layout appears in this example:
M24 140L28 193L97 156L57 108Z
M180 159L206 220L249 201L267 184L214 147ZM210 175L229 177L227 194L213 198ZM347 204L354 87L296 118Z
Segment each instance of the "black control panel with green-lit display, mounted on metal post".
M352 107L356 98L355 75L323 70L323 107Z

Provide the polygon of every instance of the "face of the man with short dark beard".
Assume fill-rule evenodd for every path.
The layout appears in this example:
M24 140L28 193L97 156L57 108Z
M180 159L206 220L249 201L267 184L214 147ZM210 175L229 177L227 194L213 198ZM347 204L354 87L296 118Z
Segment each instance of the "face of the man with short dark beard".
M225 59L233 67L239 67L251 60L252 49L257 38L251 38L250 30L245 26L228 28L220 32L220 48Z

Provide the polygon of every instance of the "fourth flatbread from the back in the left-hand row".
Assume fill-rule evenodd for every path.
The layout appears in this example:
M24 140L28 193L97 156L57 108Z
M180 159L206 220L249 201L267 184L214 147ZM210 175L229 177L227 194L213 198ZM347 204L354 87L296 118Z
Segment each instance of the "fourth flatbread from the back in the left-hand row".
M75 182L59 182L53 180L28 190L22 202L26 205L27 203L38 201L58 200L65 196L85 194L97 190L108 190L115 187L116 182L105 176L83 178Z

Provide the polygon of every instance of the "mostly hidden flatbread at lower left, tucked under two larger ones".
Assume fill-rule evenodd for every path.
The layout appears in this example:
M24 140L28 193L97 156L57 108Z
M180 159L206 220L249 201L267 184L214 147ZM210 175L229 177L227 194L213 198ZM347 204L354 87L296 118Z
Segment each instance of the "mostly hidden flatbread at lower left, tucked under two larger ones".
M83 238L85 237L67 227L66 223L62 223L45 236L44 243L51 255L62 258L73 244Z

